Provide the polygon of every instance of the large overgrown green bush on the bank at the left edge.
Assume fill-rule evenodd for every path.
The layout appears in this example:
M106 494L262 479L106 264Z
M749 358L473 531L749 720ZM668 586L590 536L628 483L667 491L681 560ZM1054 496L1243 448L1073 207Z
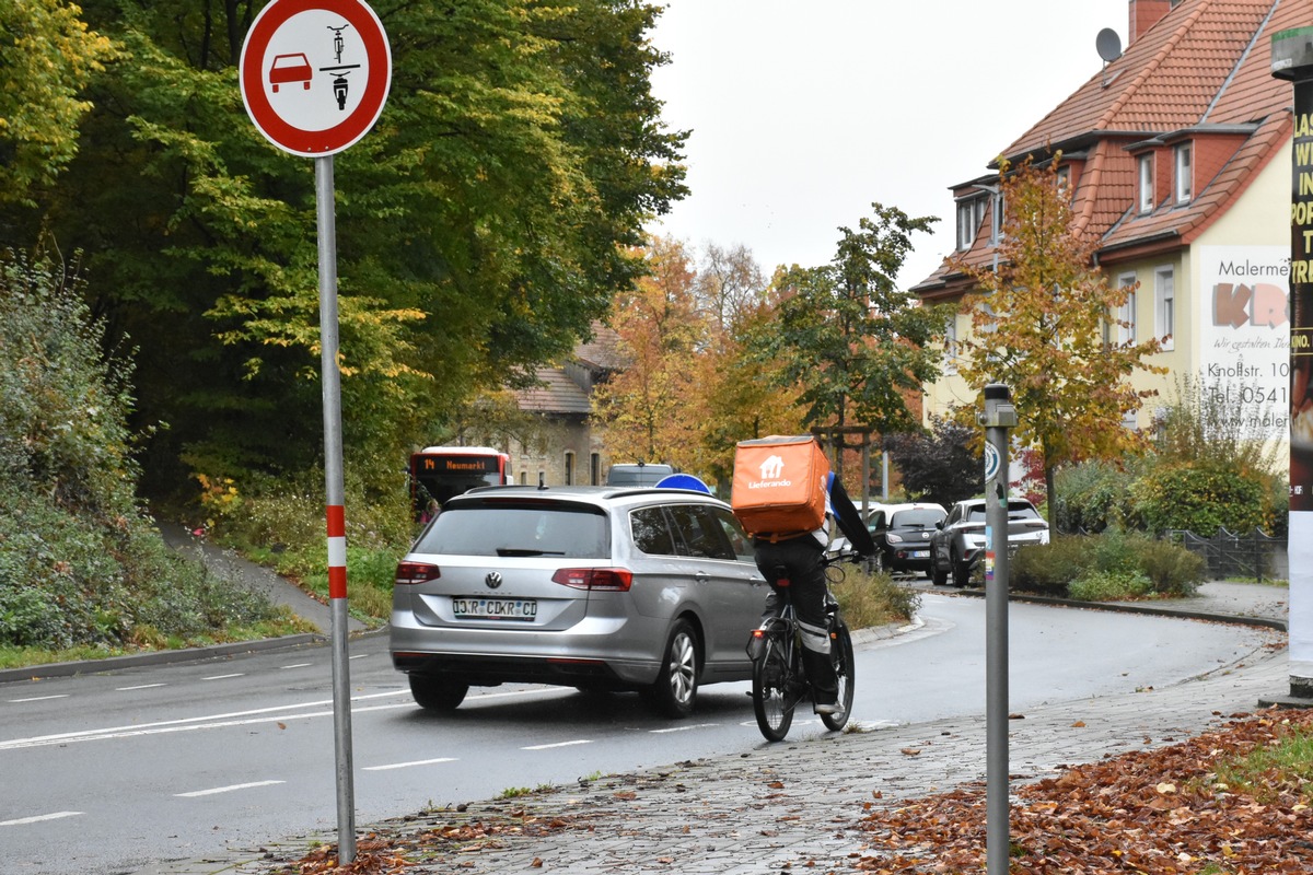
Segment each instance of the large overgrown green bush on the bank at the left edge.
M0 254L0 647L121 648L278 613L173 554L135 497L130 367L76 283Z

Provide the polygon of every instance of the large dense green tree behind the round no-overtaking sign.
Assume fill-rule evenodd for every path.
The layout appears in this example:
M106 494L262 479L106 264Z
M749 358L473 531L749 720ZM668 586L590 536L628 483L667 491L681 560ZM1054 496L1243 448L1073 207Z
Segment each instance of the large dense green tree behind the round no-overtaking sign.
M253 8L89 0L119 60L88 91L85 146L39 209L0 219L91 251L96 312L140 348L139 420L171 426L148 468L173 462L175 481L320 458L314 171L242 108ZM658 13L387 10L387 106L335 156L348 464L386 470L460 428L463 403L567 353L643 270L643 222L685 193L684 134L649 87Z

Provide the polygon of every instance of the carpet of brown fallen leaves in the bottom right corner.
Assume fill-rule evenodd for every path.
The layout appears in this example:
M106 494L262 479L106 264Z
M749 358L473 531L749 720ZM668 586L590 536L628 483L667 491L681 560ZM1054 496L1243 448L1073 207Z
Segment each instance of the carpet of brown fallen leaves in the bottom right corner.
M1236 715L1225 728L1157 750L1074 766L1016 787L1010 819L1012 872L1310 872L1309 784L1257 775L1257 792L1217 781L1217 763L1279 744L1313 714ZM1257 798L1255 798L1257 796ZM985 787L974 784L876 809L863 819L856 868L976 872L985 865Z

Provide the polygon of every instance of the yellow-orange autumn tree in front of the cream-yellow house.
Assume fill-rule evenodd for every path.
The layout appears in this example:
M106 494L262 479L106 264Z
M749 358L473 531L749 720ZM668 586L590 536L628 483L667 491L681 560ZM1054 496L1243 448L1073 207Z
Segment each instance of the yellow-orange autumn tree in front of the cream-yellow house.
M1106 327L1123 324L1116 314L1133 289L1109 286L1094 266L1098 241L1073 226L1057 165L1004 163L997 268L953 262L976 281L962 302L972 335L960 341L958 374L977 391L987 383L1011 388L1020 417L1014 438L1040 450L1049 508L1060 466L1113 459L1137 446L1123 421L1153 392L1136 390L1130 376L1165 373L1146 361L1161 349L1157 338L1106 338Z

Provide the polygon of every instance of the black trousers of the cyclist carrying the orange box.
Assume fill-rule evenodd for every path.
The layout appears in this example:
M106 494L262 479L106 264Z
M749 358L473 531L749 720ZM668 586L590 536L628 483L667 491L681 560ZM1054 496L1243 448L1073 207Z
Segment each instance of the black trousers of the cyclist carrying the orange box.
M783 573L789 581L789 598L793 600L798 626L802 627L802 668L815 690L817 702L834 702L838 683L834 677L834 664L830 661L830 631L825 614L826 585L821 542L806 534L773 544L764 538L758 538L754 543L756 567L771 584L764 615L775 617L779 613L783 594L779 592L777 581Z

